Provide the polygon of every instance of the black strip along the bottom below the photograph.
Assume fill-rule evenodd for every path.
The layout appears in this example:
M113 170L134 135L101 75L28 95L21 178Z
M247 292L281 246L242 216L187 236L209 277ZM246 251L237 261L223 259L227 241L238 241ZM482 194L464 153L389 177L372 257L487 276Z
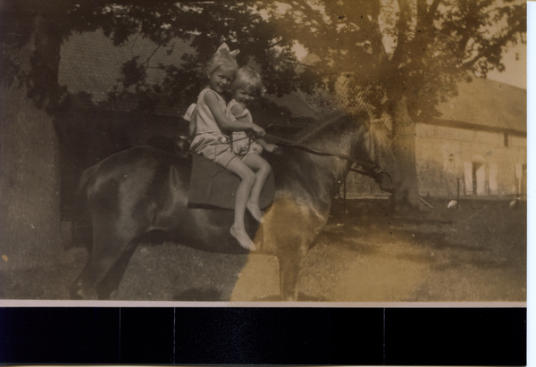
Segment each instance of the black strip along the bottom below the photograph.
M525 308L1 308L0 363L524 365Z

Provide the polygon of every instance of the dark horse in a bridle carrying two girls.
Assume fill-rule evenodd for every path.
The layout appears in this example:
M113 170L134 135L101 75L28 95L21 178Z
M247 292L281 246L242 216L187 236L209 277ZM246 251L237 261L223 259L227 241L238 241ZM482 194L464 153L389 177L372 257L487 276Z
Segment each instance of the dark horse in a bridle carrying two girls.
M282 300L297 299L306 254L328 222L332 199L353 164L350 159L370 163L362 167L376 179L387 177L389 182L383 184L389 186L389 175L378 176L372 169L374 141L369 128L366 120L336 118L308 131L299 141L306 149L281 146L267 155L275 177L275 197L264 224L250 228L258 252L279 258ZM314 154L312 149L339 156ZM121 269L139 238L157 229L185 246L247 253L230 239L229 210L188 208L190 169L185 158L138 146L84 171L79 194L90 214L93 246L88 264L72 284L71 297L109 296L109 292L97 291L101 283L118 268L121 279Z

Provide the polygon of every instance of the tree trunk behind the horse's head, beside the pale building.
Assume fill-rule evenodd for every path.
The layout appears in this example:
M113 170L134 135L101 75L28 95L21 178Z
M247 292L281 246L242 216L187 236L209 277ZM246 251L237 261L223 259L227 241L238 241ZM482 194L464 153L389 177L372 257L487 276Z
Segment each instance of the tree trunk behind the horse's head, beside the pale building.
M401 96L395 102L392 114L391 147L397 163L397 168L393 172L396 190L392 201L398 208L408 206L412 209L421 209L415 160L415 122L409 117L405 96Z

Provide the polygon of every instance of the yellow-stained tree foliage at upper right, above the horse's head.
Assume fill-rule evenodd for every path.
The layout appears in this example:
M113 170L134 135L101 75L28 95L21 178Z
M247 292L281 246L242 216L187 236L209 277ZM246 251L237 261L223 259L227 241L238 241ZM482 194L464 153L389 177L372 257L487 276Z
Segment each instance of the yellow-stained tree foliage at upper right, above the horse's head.
M406 96L412 118L456 95L470 73L504 71L505 47L525 42L526 4L492 0L294 0L272 10L286 38L316 56L316 86L347 79L348 104L389 104ZM281 6L281 5L280 5ZM297 21L301 20L301 21Z

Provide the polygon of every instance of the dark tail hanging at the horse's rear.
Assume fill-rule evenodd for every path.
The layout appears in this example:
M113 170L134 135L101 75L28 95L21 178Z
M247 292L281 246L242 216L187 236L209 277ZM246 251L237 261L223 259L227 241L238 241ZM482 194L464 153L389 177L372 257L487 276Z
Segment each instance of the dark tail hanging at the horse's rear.
M98 168L98 164L82 172L74 199L71 221L71 247L90 245L93 242L93 230L88 204L89 181Z

